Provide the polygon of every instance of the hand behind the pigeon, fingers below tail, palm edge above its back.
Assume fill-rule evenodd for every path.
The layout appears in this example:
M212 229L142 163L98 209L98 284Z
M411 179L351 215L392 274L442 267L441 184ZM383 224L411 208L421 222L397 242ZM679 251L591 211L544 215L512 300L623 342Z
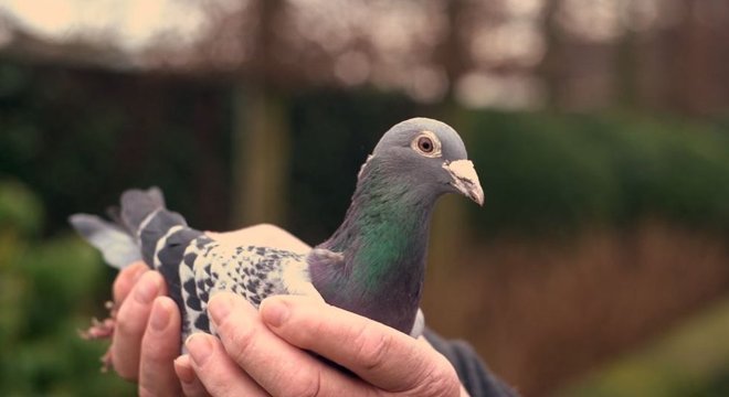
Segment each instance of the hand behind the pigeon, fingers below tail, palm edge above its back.
M208 235L221 244L246 242L297 253L309 249L286 230L265 224ZM202 390L189 365L178 365L180 380L176 376L173 360L180 353L181 321L176 303L166 294L161 275L141 261L122 270L114 282L116 314L109 364L123 378L137 382L142 396L179 395L180 380L186 393Z

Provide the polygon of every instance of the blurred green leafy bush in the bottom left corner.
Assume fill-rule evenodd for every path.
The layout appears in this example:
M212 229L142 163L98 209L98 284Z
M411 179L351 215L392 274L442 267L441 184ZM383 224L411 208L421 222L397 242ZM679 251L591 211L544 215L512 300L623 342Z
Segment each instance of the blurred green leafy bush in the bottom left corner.
M18 182L0 181L0 394L129 395L130 385L98 373L106 345L78 336L89 323L81 313L98 311L89 302L108 293L98 290L107 268L78 238L39 239L38 203Z

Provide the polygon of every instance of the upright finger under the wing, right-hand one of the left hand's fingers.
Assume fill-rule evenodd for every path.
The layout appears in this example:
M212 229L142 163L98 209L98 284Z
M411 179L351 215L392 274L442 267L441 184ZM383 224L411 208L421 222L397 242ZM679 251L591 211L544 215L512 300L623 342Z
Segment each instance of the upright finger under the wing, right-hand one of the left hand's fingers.
M180 382L172 364L179 353L180 311L170 298L158 297L141 339L140 396L180 395Z

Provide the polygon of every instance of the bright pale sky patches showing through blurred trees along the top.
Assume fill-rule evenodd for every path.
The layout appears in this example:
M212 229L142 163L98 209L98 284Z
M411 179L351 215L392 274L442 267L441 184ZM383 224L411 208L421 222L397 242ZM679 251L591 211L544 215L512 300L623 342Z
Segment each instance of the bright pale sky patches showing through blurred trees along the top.
M321 0L320 2L328 3L328 1ZM596 39L611 37L616 34L619 25L616 15L621 4L624 6L630 1L563 0L560 21L570 22L568 28L572 30L583 28L590 33L590 36ZM640 1L654 3L661 0ZM242 2L244 0L0 0L0 12L13 15L24 29L40 36L60 41L77 36L93 40L93 37L99 36L134 53L147 44L151 44L161 34L173 36L172 42L180 46L192 43L201 32L210 28L207 25L204 7L222 7L222 11L224 11L225 8L240 7ZM292 1L290 3L294 8L300 8L297 10L298 18L304 22L311 13L317 17L316 12L320 12L321 9L320 6L310 7L310 0ZM338 2L329 4L336 7ZM342 1L339 4L339 7L346 8L344 15L361 20L361 12L358 14L355 11L362 9L367 3ZM388 4L392 6L395 2ZM528 73L504 77L499 74L492 74L488 69L501 63L518 64L528 68L541 61L546 49L539 28L545 0L500 0L500 4L504 7L506 18L498 23L484 26L471 37L468 44L479 68L471 71L461 78L461 82L454 83L456 96L462 103L473 107L530 107L541 100L541 87L537 79L531 78ZM570 7L567 7L568 4ZM380 23L376 29L371 29L372 40L394 61L398 61L395 57L398 54L408 54L404 51L397 51L409 44L406 40L420 40L429 43L429 36L423 34L433 33L433 28L439 26L435 23L437 21L434 22L431 19L432 13L420 10L418 2L400 6L412 8L412 12L393 12L378 14L378 18L363 18L368 21L366 23ZM367 7L364 8L367 9ZM377 12L378 10L374 7L371 11ZM339 11L341 15L342 10ZM409 20L403 22L398 19L403 15L406 15ZM422 18L419 19L419 15ZM337 43L346 43L344 39L336 40L337 37L345 37L344 34L349 31L358 31L351 28L344 29L347 26L342 28L341 24L346 20L346 18L330 19L329 23L320 25L321 29L313 29L311 24L308 24L297 32L302 36L313 34L314 41L336 46ZM579 24L575 21L589 23ZM358 28L355 22L351 25ZM416 29L421 25L424 29ZM441 25L444 24L441 23ZM314 28L316 26L315 24ZM401 31L403 26L413 28L414 33L405 34L404 31ZM3 39L1 28L0 25L0 43ZM319 34L321 37L317 37L317 32L321 33ZM418 35L419 32L424 33ZM580 34L588 36L583 32ZM433 36L437 36L437 34ZM337 49L334 51L336 52ZM364 56L356 51L345 52L335 65L335 74L346 84L361 84L368 79L378 84L377 71L366 61ZM384 86L404 87L411 96L420 100L437 100L445 93L448 84L440 68L410 68L406 76L393 74L391 68L383 69L385 73L380 75L389 78L385 78Z

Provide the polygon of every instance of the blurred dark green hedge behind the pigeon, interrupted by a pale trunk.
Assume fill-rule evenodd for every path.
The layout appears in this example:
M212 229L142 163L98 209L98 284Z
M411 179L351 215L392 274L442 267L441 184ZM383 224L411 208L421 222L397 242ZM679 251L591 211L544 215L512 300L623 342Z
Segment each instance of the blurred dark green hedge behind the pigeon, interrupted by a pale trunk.
M645 217L729 228L728 120L466 111L374 90L279 95L292 128L284 226L307 242L336 228L373 144L413 116L464 136L486 191L484 208L468 206L478 234ZM215 82L0 62L0 178L39 193L45 234L66 228L72 212L99 213L122 190L151 184L193 225L239 226L226 225L233 96Z

